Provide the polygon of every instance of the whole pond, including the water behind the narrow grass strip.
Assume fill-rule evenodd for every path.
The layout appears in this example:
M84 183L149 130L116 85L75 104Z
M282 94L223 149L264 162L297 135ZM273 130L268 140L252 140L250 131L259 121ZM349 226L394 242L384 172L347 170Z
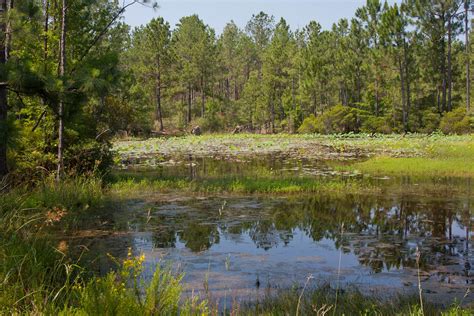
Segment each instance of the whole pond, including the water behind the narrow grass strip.
M340 163L278 156L167 157L117 172L189 180L361 177L334 171ZM382 297L417 293L420 281L429 300L462 301L474 284L470 179L369 181L389 189L288 196L137 194L103 215L100 234L83 231L71 242L85 245L86 256L120 258L131 247L145 254L149 275L157 264L171 264L185 273L188 294L220 305L302 287L310 276L309 286L357 287ZM438 184L450 189L436 195L412 190ZM102 273L110 268L106 256L95 263Z

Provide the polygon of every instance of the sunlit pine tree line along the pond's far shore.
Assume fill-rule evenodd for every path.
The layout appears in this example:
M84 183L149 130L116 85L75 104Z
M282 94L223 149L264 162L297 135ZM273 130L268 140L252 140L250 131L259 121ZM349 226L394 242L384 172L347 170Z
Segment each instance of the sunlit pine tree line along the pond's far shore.
M138 95L127 102L154 113L127 128L432 132L456 110L446 129L469 131L470 9L368 0L330 30L310 22L292 31L260 12L219 36L196 15L174 29L154 19L133 30L122 57ZM151 116L155 125L144 125Z

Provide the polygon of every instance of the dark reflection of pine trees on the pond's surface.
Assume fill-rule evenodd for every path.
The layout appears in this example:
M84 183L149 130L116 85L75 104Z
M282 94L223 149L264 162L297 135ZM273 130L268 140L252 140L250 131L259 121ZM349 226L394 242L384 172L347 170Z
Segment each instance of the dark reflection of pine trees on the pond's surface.
M415 267L417 247L422 265L442 264L449 256L466 254L463 248L468 241L466 247L457 242L453 227L465 229L468 239L472 219L469 199L430 196L293 197L246 221L238 219L245 208L228 209L231 215L221 218L209 210L209 201L201 203L200 217L184 213L167 228L157 229L155 246L174 247L179 237L187 248L198 252L219 243L220 234L228 238L246 234L257 247L268 250L289 244L298 229L314 241L333 240L336 249L352 251L361 264L379 272ZM342 223L345 233L341 236Z

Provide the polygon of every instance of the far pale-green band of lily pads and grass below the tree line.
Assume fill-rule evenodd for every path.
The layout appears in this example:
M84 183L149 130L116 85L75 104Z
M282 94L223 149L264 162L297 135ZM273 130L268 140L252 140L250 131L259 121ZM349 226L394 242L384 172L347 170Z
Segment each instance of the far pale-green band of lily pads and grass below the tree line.
M117 141L114 149L119 155L144 154L230 154L258 155L272 152L294 152L295 155L311 154L311 149L326 148L333 153L362 152L367 154L389 154L390 156L423 156L431 151L452 151L474 145L474 135L445 136L422 135L368 135L368 134L210 134L199 137L152 138L142 141ZM334 158L334 157L332 157Z

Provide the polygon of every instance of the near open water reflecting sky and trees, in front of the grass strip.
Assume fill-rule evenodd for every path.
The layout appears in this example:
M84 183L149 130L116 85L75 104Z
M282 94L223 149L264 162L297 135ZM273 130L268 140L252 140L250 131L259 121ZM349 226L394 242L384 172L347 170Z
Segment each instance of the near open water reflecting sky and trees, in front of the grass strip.
M214 295L224 297L231 289L246 290L237 297L253 295L257 278L262 288L286 287L309 274L328 282L339 275L360 287L416 289L419 249L423 287L438 295L435 300L450 300L474 284L472 204L469 196L408 193L151 196L109 214L111 229L121 233L78 242L88 240L92 258L121 257L132 247L146 254L150 271L160 260L175 262L190 289L208 278ZM104 258L96 262L101 272L110 268Z

